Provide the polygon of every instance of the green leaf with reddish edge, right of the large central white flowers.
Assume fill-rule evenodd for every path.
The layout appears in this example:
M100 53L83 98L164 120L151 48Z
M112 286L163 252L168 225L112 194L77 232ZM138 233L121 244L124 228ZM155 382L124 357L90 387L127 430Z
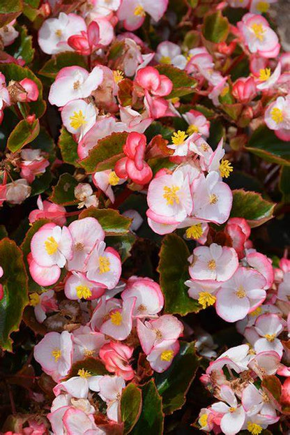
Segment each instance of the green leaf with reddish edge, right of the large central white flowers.
M266 201L260 193L238 189L233 191L231 217L247 219L251 228L262 225L273 218L274 202Z

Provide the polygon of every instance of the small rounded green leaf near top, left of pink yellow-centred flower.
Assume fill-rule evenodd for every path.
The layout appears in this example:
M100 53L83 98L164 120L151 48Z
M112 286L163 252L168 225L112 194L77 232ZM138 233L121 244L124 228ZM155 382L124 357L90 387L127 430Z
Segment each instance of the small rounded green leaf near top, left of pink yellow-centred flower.
M212 43L222 43L227 39L229 34L229 21L222 16L220 10L210 13L204 18L202 34L206 40Z

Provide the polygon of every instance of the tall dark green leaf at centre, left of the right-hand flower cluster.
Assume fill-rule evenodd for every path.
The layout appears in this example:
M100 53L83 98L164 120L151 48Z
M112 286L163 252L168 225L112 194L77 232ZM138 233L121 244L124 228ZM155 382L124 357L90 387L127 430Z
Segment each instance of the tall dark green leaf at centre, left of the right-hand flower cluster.
M188 246L181 237L176 234L164 237L159 253L158 272L165 297L165 313L185 316L200 310L199 303L188 296L188 287L184 283L189 278L189 256Z

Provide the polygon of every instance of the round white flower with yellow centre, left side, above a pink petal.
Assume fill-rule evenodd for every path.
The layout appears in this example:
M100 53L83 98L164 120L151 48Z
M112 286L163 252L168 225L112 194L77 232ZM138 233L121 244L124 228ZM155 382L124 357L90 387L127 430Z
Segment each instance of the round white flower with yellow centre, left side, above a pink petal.
M73 258L73 239L66 226L61 228L54 223L46 223L31 239L33 260L40 266L63 267Z

